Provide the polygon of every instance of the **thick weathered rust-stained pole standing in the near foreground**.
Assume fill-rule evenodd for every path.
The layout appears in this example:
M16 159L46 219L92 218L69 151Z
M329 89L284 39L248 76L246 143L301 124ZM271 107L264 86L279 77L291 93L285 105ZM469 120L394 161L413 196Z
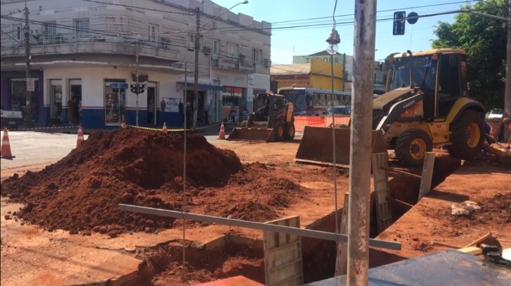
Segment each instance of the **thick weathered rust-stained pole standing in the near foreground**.
M355 1L348 285L368 285L376 0Z

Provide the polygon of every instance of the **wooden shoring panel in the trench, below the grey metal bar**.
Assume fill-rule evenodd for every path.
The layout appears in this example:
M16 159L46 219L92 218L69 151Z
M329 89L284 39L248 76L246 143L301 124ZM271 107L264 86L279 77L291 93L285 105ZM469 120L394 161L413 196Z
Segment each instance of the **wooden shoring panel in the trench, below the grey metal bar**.
M300 227L298 216L276 219L267 223L292 228ZM302 239L300 236L264 231L263 245L266 285L293 286L304 283Z

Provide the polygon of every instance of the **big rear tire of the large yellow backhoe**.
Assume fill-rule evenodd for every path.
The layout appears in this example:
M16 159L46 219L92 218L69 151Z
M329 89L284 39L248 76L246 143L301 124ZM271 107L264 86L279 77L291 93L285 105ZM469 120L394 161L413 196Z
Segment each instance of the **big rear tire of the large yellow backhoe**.
M484 143L484 121L477 113L467 109L451 123L451 144L449 154L457 159L471 160L481 152Z

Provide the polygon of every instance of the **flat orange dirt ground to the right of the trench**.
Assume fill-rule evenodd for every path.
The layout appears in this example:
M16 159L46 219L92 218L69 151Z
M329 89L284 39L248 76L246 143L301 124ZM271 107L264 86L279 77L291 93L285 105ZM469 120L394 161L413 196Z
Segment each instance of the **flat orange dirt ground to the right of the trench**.
M451 214L453 204L468 200L478 203L481 210L466 216ZM389 252L389 257L400 261L446 249L431 245L433 241L465 247L488 232L503 248L510 248L510 226L511 168L489 162L466 162L378 235L378 239L401 242L401 251ZM383 257L372 262L387 264Z

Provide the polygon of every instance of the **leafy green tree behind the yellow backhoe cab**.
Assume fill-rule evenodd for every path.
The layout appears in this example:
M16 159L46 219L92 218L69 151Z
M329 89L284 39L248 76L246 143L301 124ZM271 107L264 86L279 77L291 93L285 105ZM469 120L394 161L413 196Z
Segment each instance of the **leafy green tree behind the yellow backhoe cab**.
M507 0L491 0L465 5L464 10L507 17ZM506 80L506 23L470 13L455 16L454 23L439 22L433 32L433 48L451 47L468 54L468 91L470 97L486 108L502 108Z

